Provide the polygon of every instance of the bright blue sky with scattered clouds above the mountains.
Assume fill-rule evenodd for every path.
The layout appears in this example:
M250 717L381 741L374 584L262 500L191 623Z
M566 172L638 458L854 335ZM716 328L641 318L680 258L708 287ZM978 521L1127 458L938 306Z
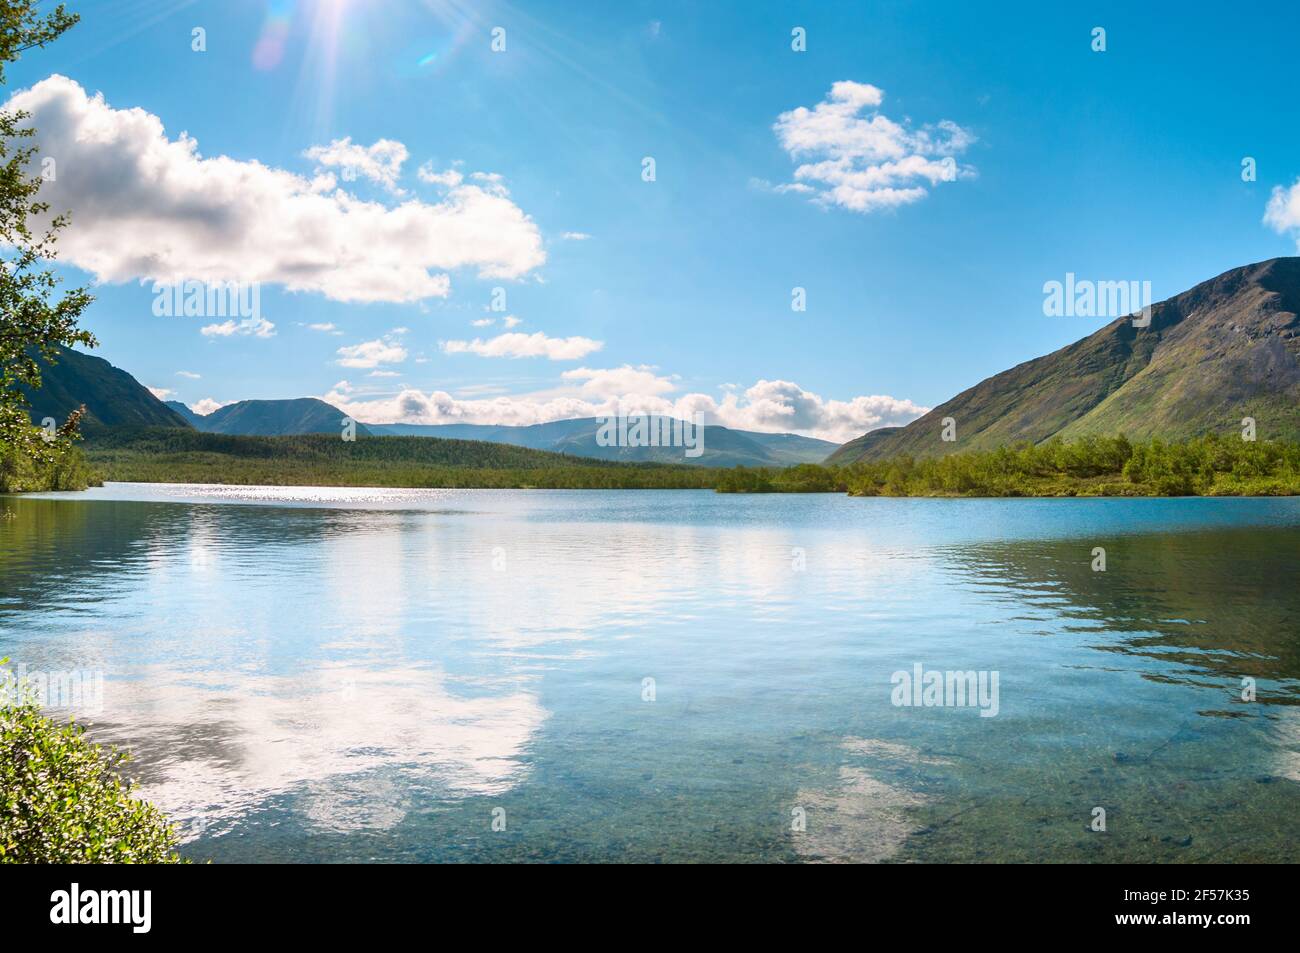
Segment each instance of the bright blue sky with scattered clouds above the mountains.
M1044 316L1044 282L1067 272L1150 281L1158 300L1295 254L1300 190L1264 221L1300 177L1294 7L979 7L86 0L8 92L72 81L29 94L58 161L48 198L78 230L65 272L96 283L98 352L177 399L532 423L625 398L844 439L1106 322ZM838 131L793 114L853 96ZM796 177L844 160L855 147L835 137L878 116L887 146L922 165L950 155L956 179L898 173L923 196L859 209L829 178ZM849 157L867 177L880 161ZM316 205L276 191L313 179L313 196L350 196L329 198L320 228ZM433 251L398 270L411 228ZM299 252L318 273L290 291ZM273 328L155 315L157 261L259 282ZM486 309L495 287L504 312ZM504 356L520 351L550 356Z

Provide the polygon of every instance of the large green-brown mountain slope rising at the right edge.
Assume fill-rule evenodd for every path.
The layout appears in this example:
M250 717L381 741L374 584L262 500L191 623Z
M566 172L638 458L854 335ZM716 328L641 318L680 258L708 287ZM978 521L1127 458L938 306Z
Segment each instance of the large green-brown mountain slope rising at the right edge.
M1225 272L1082 341L965 390L902 428L872 430L827 463L936 456L1060 436L1300 439L1300 257ZM957 439L940 439L944 417Z

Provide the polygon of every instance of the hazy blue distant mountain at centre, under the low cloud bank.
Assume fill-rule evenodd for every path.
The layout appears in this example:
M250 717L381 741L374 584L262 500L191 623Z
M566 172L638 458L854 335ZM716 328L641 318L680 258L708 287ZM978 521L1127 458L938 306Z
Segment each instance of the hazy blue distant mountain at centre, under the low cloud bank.
M653 417L658 421L660 417ZM699 456L685 456L682 447L611 447L597 442L601 420L581 417L530 426L484 424L367 424L374 434L442 437L451 439L510 443L533 450L586 456L599 460L693 463L702 467L786 467L818 463L836 449L829 441L790 433L753 433L727 426L705 426Z

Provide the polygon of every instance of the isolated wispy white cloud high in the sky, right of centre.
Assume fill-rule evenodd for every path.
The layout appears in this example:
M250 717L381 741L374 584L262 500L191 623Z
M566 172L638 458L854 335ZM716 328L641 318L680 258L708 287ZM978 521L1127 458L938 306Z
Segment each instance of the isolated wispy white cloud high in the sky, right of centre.
M841 81L811 109L781 113L772 129L790 159L802 164L794 182L775 190L875 212L918 202L928 195L927 186L975 174L954 159L974 135L949 120L920 129L894 122L879 112L884 98L870 83Z

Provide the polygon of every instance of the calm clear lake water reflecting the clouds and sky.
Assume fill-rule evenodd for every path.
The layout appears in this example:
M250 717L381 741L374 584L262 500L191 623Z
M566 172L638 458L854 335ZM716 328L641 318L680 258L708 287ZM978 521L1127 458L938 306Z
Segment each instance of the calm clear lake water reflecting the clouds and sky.
M0 657L217 862L1297 861L1297 582L1300 499L0 497Z

